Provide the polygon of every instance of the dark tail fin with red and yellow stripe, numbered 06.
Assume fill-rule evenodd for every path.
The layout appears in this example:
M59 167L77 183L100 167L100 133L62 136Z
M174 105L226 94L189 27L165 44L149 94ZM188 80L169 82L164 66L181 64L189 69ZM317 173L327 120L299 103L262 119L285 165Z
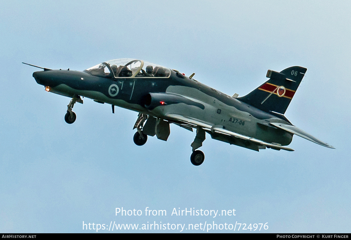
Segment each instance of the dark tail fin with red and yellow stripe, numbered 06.
M244 97L237 98L265 112L284 114L305 76L306 68L293 66L281 72L268 70L267 82Z

